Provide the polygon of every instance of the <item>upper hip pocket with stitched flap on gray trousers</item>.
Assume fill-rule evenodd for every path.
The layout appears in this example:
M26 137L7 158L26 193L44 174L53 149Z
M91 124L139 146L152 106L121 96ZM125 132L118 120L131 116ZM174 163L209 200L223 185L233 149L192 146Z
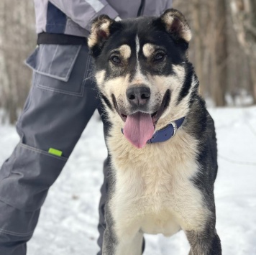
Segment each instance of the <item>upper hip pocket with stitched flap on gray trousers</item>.
M26 64L34 70L37 88L82 97L91 56L82 45L40 45Z

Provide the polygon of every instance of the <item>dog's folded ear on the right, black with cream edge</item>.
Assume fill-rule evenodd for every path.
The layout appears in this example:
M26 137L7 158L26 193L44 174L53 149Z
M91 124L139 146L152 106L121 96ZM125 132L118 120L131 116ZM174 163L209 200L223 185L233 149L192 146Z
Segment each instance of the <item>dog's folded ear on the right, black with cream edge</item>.
M168 9L161 15L160 20L164 24L165 30L175 39L182 39L187 43L190 42L192 37L191 28L180 11Z

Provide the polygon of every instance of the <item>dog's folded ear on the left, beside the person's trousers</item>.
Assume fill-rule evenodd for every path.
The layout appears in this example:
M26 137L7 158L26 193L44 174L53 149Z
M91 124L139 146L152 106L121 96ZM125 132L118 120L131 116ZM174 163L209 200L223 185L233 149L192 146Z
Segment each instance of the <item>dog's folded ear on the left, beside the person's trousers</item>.
M99 55L102 46L111 34L110 27L114 22L114 19L110 19L107 15L100 15L93 20L91 24L91 32L88 37L88 47L91 50L93 57Z

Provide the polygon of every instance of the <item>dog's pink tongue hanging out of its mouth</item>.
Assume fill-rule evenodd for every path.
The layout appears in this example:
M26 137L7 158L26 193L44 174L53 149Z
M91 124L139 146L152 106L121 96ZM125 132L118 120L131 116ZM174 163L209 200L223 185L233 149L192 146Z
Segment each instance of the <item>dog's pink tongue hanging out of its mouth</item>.
M137 112L127 116L124 124L124 136L135 147L142 148L154 134L154 125L151 115Z

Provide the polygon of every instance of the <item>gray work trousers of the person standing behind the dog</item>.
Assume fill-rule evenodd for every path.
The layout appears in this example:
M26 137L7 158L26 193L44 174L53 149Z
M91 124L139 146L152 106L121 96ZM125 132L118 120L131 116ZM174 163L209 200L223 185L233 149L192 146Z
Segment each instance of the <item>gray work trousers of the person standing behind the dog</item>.
M27 65L33 69L33 78L17 121L20 142L0 170L1 255L26 254L26 242L35 230L49 187L60 175L93 112L96 108L101 111L85 45L40 45ZM63 154L50 154L50 148ZM105 173L108 162L106 159ZM101 193L100 247L106 179Z

